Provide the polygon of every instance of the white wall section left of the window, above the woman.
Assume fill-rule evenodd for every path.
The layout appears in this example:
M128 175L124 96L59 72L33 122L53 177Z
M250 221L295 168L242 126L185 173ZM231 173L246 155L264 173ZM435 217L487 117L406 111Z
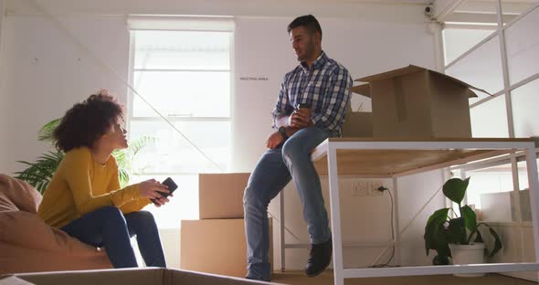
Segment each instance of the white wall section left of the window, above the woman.
M129 33L120 16L65 17L64 25L102 60L127 77ZM37 142L43 124L63 115L74 103L100 88L126 100L126 88L101 69L69 37L41 16L5 18L3 59L5 108L5 172L21 169L18 160L34 160L48 149ZM4 171L4 170L3 170Z

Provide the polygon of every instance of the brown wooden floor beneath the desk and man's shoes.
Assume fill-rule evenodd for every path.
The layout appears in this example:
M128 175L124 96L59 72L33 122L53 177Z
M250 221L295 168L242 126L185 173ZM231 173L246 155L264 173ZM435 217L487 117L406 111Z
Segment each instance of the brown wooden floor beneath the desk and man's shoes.
M274 272L271 281L291 285L331 285L333 284L333 271L326 270L321 275L309 278L301 271ZM407 276L387 278L361 278L346 279L345 285L532 285L536 282L520 280L498 274L487 274L484 277L455 277L452 275Z

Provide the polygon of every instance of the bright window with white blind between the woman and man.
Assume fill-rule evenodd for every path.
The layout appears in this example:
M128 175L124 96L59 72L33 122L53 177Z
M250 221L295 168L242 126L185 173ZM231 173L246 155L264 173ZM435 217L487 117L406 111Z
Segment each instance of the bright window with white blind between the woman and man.
M175 228L198 217L197 174L226 171L231 163L233 33L189 26L135 29L131 36L129 135L145 145L130 183L171 176L179 186L174 198L146 210L159 227Z

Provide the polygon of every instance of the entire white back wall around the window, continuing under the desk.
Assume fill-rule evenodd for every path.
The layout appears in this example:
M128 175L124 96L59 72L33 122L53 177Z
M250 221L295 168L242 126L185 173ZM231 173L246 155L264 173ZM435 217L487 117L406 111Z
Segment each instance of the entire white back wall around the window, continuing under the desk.
M435 66L434 39L428 33L423 7L419 5L360 5L344 1L335 5L313 1L308 2L309 8L305 8L307 2L299 1L287 4L287 8L283 9L283 3L279 1L269 5L260 5L258 2L255 5L250 1L199 3L164 0L152 3L94 1L91 4L51 0L40 3L47 3L53 14L61 15L58 18L62 25L68 27L77 40L90 48L90 52L97 58L110 63L112 69L124 79L127 78L129 68L129 34L125 17L120 15L236 16L233 171L238 172L251 171L264 152L263 142L271 132L270 111L279 92L280 80L298 64L286 33L286 26L294 16L315 13L319 17L324 35L323 49L331 58L343 63L354 79L408 64L427 68ZM5 75L1 93L7 110L0 114L0 121L9 122L9 125L0 125L3 128L0 132L9 133L9 136L3 135L4 153L0 154L5 166L0 166L5 168L0 170L13 173L21 168L21 165L15 163L16 160L33 160L47 149L47 145L37 142L36 138L37 130L44 122L61 116L73 103L85 99L101 87L107 87L120 95L125 102L126 88L122 80L97 66L73 44L72 38L58 31L58 27L52 25L48 18L35 16L34 9L26 1L9 1L8 4L10 14L5 18L5 50L1 57ZM108 16L95 16L103 14ZM239 77L244 76L267 77L269 80L239 80ZM399 187L399 193L413 193L404 197L401 195L399 207L403 221L416 206L419 207L408 205L411 201L420 201L413 199L414 195L427 196L430 193L428 190L438 185L439 175L425 174L408 179L407 183ZM327 180L323 181L327 185ZM378 225L386 225L389 220L387 197L347 199L349 185L353 181L352 178L343 181L343 208L358 215L379 209L385 214L378 216L376 221ZM426 185L425 193L417 191L417 185ZM287 212L294 213L301 206L293 188L289 185L287 189ZM327 187L324 189L327 195ZM275 215L276 206L270 206L270 212ZM441 206L441 201L434 206ZM361 213L357 209L361 209ZM307 241L301 215L289 214L288 217L287 227L301 241ZM403 249L406 253L403 260L410 264L428 264L423 258L424 251L416 250L422 244L424 222L417 221L418 226L411 227L407 232L410 243L406 247L412 249ZM354 216L343 223L343 227L356 226ZM279 223L275 223L274 228L279 228ZM388 228L381 226L379 229L370 238L386 239ZM361 234L361 231L353 230L345 238L362 237ZM178 260L171 258L177 255L177 235L174 231L164 233L164 247L172 267L178 266ZM307 251L294 249L288 252L290 267L287 268L301 269ZM355 265L367 264L372 261L375 252L370 251L365 258L358 254L359 259L347 260ZM275 259L279 260L279 255Z

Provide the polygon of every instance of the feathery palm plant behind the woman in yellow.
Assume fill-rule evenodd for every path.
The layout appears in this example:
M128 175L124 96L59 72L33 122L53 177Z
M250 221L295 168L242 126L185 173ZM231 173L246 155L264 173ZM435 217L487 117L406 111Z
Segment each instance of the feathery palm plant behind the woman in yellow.
M58 169L58 164L64 157L64 153L54 146L52 136L60 120L61 118L49 121L37 133L37 139L40 142L50 142L51 146L55 149L54 151L48 151L48 153L38 156L35 162L18 161L18 163L26 164L27 167L25 170L17 172L16 178L34 186L42 195ZM130 176L135 172L132 169L132 161L135 159L135 156L151 141L153 141L152 138L143 136L132 141L127 149L116 150L112 153L118 162L118 173L122 187L129 184Z

